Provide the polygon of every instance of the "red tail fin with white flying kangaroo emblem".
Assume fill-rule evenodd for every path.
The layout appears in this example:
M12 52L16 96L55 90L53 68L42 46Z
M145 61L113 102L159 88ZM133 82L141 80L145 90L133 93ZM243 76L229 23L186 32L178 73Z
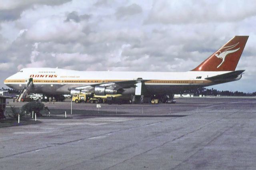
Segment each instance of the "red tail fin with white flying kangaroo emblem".
M234 71L249 36L234 36L191 71Z

